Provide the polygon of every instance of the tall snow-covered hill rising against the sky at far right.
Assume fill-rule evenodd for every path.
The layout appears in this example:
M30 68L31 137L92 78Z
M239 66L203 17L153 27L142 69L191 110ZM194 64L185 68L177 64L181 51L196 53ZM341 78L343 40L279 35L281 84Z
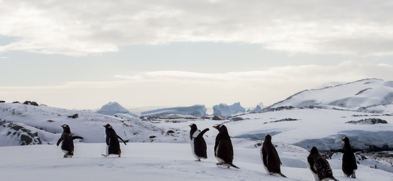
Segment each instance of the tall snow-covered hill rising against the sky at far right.
M381 106L393 103L393 81L363 79L321 89L311 89L297 93L288 99L264 109L275 110L285 107L321 107L344 109L365 113L393 113L392 109Z

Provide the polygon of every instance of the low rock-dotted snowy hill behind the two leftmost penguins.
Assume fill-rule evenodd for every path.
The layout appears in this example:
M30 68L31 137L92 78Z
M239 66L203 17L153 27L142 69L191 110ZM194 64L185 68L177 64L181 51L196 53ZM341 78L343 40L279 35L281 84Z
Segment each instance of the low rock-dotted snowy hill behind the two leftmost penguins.
M75 118L72 118L73 115ZM185 130L162 128L139 119L121 119L81 110L67 110L44 105L33 106L22 103L0 103L0 146L20 145L20 137L9 134L9 123L18 124L30 132L37 133L42 144L54 144L60 138L63 124L71 127L76 136L84 137L85 143L105 141L104 124L111 124L117 134L129 142L186 142ZM12 130L12 129L11 129ZM15 130L15 129L13 129ZM169 130L174 133L166 134ZM182 133L182 134L180 134ZM20 133L28 135L27 133ZM151 138L153 136L154 138ZM34 144L34 143L32 143Z

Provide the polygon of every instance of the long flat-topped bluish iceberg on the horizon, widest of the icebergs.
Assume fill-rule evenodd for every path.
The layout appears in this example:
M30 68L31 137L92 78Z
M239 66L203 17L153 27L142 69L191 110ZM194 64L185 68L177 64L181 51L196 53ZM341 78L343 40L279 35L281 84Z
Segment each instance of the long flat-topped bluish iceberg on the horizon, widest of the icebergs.
M190 107L175 107L163 108L151 111L144 111L141 116L159 116L165 114L180 114L180 115L194 115L194 116L207 116L205 105L194 105Z

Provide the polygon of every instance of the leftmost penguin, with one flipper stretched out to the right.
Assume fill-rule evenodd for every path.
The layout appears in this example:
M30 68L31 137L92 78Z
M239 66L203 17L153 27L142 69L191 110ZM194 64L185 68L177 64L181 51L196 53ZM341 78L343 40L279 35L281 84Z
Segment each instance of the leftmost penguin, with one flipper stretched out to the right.
M61 144L60 148L61 151L64 152L64 158L73 157L74 155L74 139L82 139L83 137L80 136L73 136L71 133L70 126L64 124L60 126L63 128L63 133L61 134L60 139L57 141L57 146Z

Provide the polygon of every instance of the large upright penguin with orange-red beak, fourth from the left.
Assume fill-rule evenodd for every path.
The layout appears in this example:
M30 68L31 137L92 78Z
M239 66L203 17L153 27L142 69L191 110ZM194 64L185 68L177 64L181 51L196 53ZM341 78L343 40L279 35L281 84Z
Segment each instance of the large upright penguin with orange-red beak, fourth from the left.
M232 163L233 146L231 138L228 134L227 127L225 127L225 125L223 124L220 124L217 126L213 126L213 128L216 128L219 131L216 137L216 143L214 144L214 156L218 160L218 163L216 164L227 166L227 168L229 168L229 166L232 166L234 168L240 169Z

